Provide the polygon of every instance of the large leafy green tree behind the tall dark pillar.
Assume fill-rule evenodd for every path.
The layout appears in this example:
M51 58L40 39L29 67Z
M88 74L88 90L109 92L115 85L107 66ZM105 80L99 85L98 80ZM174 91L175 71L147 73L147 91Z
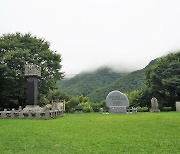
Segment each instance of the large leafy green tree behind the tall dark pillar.
M41 67L39 94L47 95L56 80L63 77L61 55L50 50L49 42L28 34L5 34L0 37L1 106L26 104L25 64ZM14 102L14 103L12 103ZM8 104L8 105L7 105Z

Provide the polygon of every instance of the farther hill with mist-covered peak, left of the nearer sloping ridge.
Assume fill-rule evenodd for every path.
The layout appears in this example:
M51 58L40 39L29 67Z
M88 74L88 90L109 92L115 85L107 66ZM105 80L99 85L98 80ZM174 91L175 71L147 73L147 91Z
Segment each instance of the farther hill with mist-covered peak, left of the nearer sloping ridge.
M70 79L58 82L60 89L70 95L87 96L94 90L111 84L126 73L117 73L111 68L100 68L94 72L86 72L76 75Z

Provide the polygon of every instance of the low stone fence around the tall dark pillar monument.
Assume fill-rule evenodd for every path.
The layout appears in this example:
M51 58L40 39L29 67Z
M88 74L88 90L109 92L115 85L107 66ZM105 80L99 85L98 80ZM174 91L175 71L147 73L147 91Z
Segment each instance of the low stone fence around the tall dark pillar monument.
M48 110L45 112L40 112L40 111L26 112L23 110L0 111L1 119L52 119L60 116L64 116L64 111L60 111L60 110Z

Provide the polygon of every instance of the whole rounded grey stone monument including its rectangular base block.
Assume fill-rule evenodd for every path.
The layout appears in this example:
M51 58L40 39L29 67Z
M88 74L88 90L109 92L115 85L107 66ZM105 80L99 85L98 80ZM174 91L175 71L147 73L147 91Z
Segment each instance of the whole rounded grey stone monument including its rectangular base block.
M107 95L106 106L109 108L109 113L127 113L129 100L125 94L115 90Z

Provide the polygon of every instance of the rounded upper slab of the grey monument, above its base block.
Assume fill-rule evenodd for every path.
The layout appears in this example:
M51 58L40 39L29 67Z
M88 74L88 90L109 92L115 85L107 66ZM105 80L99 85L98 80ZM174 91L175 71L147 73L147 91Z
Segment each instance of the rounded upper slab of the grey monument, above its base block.
M111 91L106 97L106 105L110 106L126 106L129 107L127 96L118 90Z

